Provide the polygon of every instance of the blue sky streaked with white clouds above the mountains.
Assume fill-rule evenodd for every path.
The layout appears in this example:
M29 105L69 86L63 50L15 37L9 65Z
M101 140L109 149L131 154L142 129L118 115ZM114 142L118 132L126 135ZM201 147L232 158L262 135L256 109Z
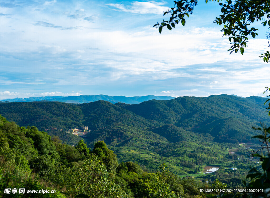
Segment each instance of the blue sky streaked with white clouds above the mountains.
M259 37L242 56L199 1L185 27L153 25L173 1L0 1L0 99L33 96L263 95L270 68Z

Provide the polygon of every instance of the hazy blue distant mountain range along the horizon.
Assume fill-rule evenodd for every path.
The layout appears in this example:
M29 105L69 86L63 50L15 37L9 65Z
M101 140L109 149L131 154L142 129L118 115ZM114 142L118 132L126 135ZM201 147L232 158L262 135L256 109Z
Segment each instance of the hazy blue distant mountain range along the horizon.
M4 99L0 100L2 102L36 102L36 101L58 101L58 102L66 102L66 103L88 103L95 102L98 100L105 100L110 103L126 103L126 104L139 104L148 100L170 100L174 99L171 96L107 96L107 95L92 95L92 96L43 96L43 97L30 97L30 98L14 98L14 99Z

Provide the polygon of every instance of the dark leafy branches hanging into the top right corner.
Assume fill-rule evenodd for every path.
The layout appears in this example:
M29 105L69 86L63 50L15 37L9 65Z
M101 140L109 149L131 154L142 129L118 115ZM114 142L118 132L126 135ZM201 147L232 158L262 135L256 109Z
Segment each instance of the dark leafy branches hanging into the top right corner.
M222 25L223 36L228 37L231 47L228 51L230 54L234 51L237 53L244 54L244 48L247 47L249 41L248 36L255 38L258 36L258 29L252 27L251 24L257 21L261 21L262 25L265 27L267 24L270 28L270 1L269 0L226 0L221 3L220 0L210 0L211 2L220 2L222 14L216 17L213 23ZM208 0L205 0L207 3ZM163 16L166 14L171 14L169 20L163 20L160 24L154 25L158 28L159 33L161 33L163 27L167 27L172 30L175 25L180 23L185 25L185 18L189 17L189 14L193 13L194 6L198 4L198 0L180 0L174 1L174 7L171 10L164 12ZM269 36L267 36L267 39ZM264 62L269 61L270 54L269 51L262 53L261 58Z

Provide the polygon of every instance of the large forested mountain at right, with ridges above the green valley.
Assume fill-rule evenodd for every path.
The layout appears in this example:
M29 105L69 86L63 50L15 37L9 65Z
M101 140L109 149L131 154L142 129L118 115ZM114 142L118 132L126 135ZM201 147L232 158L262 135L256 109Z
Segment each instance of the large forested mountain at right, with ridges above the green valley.
M179 97L173 100L150 100L124 108L146 119L173 124L186 131L209 133L219 142L250 141L252 126L269 123L264 114L264 98L240 98L230 95L207 98Z

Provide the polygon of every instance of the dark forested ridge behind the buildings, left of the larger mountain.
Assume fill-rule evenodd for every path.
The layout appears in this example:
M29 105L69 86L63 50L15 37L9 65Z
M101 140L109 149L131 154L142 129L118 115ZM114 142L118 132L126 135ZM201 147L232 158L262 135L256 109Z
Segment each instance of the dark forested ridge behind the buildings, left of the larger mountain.
M83 125L96 130L115 123L138 127L161 125L104 100L80 105L63 102L1 103L0 114L19 125L37 126L40 130L50 127L64 130Z

